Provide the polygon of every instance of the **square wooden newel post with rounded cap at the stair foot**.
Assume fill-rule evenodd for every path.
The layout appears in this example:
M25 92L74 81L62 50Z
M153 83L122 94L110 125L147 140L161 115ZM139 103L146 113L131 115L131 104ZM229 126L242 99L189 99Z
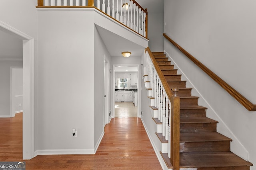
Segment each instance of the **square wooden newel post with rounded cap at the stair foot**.
M180 97L179 89L172 89L170 135L171 135L171 163L173 170L180 169Z

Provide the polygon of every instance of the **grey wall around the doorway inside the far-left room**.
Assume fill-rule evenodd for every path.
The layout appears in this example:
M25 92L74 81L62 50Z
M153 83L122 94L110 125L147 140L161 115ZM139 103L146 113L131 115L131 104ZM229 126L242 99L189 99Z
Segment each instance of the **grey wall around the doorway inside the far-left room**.
M10 117L10 67L22 61L0 61L0 117Z

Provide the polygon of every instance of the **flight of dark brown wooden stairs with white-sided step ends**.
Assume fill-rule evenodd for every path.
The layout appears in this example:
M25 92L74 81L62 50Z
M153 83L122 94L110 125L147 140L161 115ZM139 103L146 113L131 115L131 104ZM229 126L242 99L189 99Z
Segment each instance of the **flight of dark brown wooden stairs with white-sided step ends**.
M186 88L177 69L163 52L152 53L170 88L178 88L180 96L180 168L197 170L250 170L252 164L230 151L232 139L216 132L217 121L206 117L206 107L198 106L198 97L191 96L192 88ZM149 82L148 80L146 82ZM150 90L150 89L149 89ZM150 93L149 93L150 95ZM148 96L154 100L152 96ZM152 103L152 102L151 102ZM157 108L150 106L154 115ZM157 126L162 123L155 116ZM161 128L158 128L161 129ZM168 168L172 168L168 158L168 141L161 130L156 135L162 143L161 155Z

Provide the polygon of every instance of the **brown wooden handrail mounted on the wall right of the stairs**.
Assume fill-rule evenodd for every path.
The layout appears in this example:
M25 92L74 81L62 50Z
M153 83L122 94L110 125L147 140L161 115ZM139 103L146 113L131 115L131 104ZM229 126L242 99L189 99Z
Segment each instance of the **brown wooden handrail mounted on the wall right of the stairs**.
M204 64L198 61L195 57L193 57L190 53L184 50L180 45L175 43L170 37L168 37L165 33L163 34L168 41L170 41L175 47L177 47L184 55L186 55L193 63L195 63L198 67L200 67L206 74L208 74L215 82L217 82L224 90L226 90L231 96L233 96L242 106L244 106L249 111L256 111L256 105L252 104L249 100L247 100L242 94L237 92L234 88L232 88L228 83L222 80L219 76L217 76L214 72L212 72L209 68L207 68Z

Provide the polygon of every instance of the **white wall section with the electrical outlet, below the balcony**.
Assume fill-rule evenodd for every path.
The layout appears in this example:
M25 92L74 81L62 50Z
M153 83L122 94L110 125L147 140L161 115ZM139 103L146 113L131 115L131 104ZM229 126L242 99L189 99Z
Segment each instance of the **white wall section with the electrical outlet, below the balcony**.
M94 153L93 16L84 10L38 11L38 154Z

